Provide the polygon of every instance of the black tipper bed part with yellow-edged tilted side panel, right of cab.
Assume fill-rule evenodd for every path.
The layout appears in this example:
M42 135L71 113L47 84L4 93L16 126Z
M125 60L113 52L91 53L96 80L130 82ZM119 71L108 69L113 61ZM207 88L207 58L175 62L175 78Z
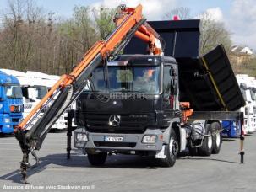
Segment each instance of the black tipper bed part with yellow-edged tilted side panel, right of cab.
M222 45L203 57L177 58L180 101L197 111L234 111L245 101Z

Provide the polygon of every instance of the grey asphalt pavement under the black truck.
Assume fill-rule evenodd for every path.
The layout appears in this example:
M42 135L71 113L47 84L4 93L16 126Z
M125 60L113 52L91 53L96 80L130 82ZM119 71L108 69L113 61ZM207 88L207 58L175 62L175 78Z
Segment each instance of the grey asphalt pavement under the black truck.
M228 139L220 154L179 157L172 168L128 155L112 155L104 166L93 167L75 149L67 160L66 142L65 132L49 133L37 153L39 165L29 171L30 184L23 184L18 141L1 137L0 191L256 191L256 133L246 136L243 164L239 139Z

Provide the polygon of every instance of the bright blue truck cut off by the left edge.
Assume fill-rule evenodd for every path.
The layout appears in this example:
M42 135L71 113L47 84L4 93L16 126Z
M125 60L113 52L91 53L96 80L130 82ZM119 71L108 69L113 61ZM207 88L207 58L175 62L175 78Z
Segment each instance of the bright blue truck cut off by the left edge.
M0 134L11 134L22 120L23 100L19 80L0 71Z

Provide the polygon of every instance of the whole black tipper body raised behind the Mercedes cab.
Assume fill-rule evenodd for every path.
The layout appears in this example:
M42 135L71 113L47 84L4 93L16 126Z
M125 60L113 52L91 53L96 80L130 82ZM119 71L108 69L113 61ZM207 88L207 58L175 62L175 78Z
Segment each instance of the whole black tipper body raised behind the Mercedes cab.
M177 60L180 101L190 102L194 111L235 111L245 101L231 63L222 45L199 56L199 20L152 21L161 35L165 55ZM133 37L126 54L146 54L147 47Z

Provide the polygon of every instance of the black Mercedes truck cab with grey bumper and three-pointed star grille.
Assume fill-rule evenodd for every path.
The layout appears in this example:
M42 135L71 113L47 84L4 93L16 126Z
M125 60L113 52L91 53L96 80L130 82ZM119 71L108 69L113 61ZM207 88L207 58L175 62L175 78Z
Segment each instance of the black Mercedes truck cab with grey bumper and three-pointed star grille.
M107 70L108 77L104 76ZM93 154L156 155L180 121L177 63L168 56L118 56L92 72L77 100L75 146ZM171 148L178 152L177 140ZM91 157L92 157L91 156ZM92 157L93 158L93 157Z

